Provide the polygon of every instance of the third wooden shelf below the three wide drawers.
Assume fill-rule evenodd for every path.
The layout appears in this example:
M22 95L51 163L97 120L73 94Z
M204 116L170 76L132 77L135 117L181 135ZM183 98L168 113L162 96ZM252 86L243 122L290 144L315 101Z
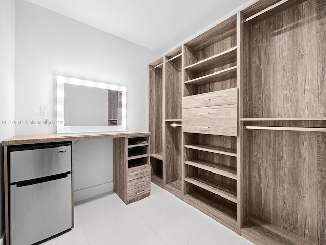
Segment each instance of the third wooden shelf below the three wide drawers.
M222 198L237 203L236 187L208 177L196 175L184 179L186 182L208 190Z

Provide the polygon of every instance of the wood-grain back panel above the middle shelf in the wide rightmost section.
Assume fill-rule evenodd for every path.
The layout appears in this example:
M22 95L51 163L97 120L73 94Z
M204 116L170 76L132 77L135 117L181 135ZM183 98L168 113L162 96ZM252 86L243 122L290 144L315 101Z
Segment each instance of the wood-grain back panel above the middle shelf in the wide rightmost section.
M307 0L251 26L251 86L255 89L249 117L324 117L321 63L325 54L317 48L324 39L318 41L322 20L316 19L316 8L316 0Z

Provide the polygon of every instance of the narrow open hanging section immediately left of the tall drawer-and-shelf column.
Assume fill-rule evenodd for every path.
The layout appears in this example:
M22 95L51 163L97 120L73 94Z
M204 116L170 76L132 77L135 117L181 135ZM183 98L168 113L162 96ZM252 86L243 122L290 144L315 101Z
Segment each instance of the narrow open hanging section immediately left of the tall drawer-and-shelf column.
M181 198L181 102L182 102L182 48L164 56L164 188Z

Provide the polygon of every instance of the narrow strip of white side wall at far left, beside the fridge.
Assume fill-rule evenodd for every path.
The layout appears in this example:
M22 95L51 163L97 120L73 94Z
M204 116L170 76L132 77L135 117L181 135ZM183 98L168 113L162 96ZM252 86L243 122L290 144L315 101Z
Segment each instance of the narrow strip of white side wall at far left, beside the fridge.
M15 135L15 1L0 0L0 144ZM0 151L0 243L4 226L3 151Z

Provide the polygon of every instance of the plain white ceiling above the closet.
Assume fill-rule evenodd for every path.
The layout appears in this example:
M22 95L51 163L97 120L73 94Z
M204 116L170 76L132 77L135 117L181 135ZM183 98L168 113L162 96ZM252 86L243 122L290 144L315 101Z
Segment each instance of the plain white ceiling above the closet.
M164 53L247 0L26 0Z

